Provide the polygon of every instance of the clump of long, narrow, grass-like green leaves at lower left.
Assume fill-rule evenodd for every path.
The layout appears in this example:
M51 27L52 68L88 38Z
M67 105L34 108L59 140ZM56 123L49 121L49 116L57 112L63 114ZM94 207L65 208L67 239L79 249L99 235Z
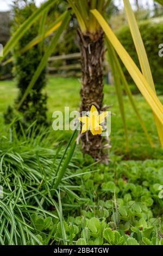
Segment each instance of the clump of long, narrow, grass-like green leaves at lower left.
M48 244L49 233L61 220L59 206L52 197L52 182L63 151L52 149L52 142L58 145L57 138L49 136L49 131L42 127L22 129L23 137L17 138L12 124L7 130L1 130L0 138L0 184L3 198L0 200L0 244L1 245L41 245ZM2 127L1 127L2 129ZM37 133L37 136L35 136ZM54 161L55 159L55 161ZM65 180L61 181L62 192L71 191L67 166ZM75 186L73 186L74 189ZM76 196L78 198L78 196ZM58 224L59 225L59 224Z

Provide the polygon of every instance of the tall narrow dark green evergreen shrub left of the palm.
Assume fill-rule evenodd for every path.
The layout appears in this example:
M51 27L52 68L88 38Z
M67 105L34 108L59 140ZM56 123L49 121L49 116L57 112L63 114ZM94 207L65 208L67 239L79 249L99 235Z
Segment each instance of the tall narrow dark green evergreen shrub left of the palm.
M14 5L14 24L12 25L12 33L14 33L20 25L27 20L27 18L36 10L33 1L28 1L22 9L19 9L17 5ZM15 101L17 105L24 92L26 91L30 80L32 79L37 66L42 58L42 49L39 45L34 46L26 53L20 54L21 49L28 44L30 40L35 38L38 34L39 22L36 22L24 36L18 41L13 51L14 57L14 76L16 85L18 87L18 96ZM30 90L29 95L23 102L23 105L19 109L23 116L23 127L28 127L34 121L39 125L47 125L47 96L42 92L42 89L46 85L46 69L44 69L39 78L37 79L35 86ZM6 113L8 115L8 112Z

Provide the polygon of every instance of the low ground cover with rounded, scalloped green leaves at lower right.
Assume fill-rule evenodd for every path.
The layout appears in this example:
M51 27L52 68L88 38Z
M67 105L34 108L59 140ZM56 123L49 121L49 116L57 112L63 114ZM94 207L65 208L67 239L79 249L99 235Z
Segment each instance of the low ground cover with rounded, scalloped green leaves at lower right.
M82 167L80 158L82 154L77 152L73 162L78 163L79 169L75 174L85 174L76 175L74 183L81 187L79 195L85 202L76 203L71 198L70 205L67 197L61 199L68 244L161 245L163 204L158 193L163 181L163 162L116 162L112 159L109 167L97 164L93 168L91 162L90 167L88 163L85 166L85 159ZM86 186L87 179L92 180L91 187ZM117 190L104 192L102 187L107 182L114 184ZM54 236L61 239L61 231Z

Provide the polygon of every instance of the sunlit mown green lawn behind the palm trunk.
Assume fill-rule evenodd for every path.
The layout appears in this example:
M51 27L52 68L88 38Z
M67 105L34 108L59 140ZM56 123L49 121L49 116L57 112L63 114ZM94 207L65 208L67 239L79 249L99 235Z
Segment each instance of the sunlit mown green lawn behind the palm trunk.
M47 88L45 89L48 94L48 118L53 121L53 111L64 111L64 107L68 106L71 110L78 110L80 105L80 81L76 78L53 78L49 77L47 81ZM139 121L130 105L128 97L124 95L124 104L126 108L128 135L130 153L125 151L125 138L123 132L123 125L121 120L120 109L118 107L115 89L112 86L106 85L104 88L105 97L104 104L113 105L111 108L111 153L123 155L126 159L162 159L162 150L153 121L152 111L141 95L134 95L137 107L141 113L143 120L149 131L149 135L153 139L155 149L151 149L145 133L143 133ZM1 81L0 82L0 120L3 122L3 112L5 108L14 103L17 94L14 81ZM163 96L160 96L163 102ZM54 131L53 131L54 132ZM70 137L71 132L60 131L60 135L64 138Z

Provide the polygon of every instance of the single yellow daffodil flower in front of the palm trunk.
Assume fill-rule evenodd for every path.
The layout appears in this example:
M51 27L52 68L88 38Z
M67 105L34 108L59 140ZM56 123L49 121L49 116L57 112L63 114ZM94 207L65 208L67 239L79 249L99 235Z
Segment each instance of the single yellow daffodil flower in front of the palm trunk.
M79 117L79 121L84 125L82 126L82 132L88 130L91 131L92 135L100 135L103 131L103 127L100 125L104 123L105 117L108 115L108 111L104 111L102 114L98 114L97 108L92 105L89 117Z

